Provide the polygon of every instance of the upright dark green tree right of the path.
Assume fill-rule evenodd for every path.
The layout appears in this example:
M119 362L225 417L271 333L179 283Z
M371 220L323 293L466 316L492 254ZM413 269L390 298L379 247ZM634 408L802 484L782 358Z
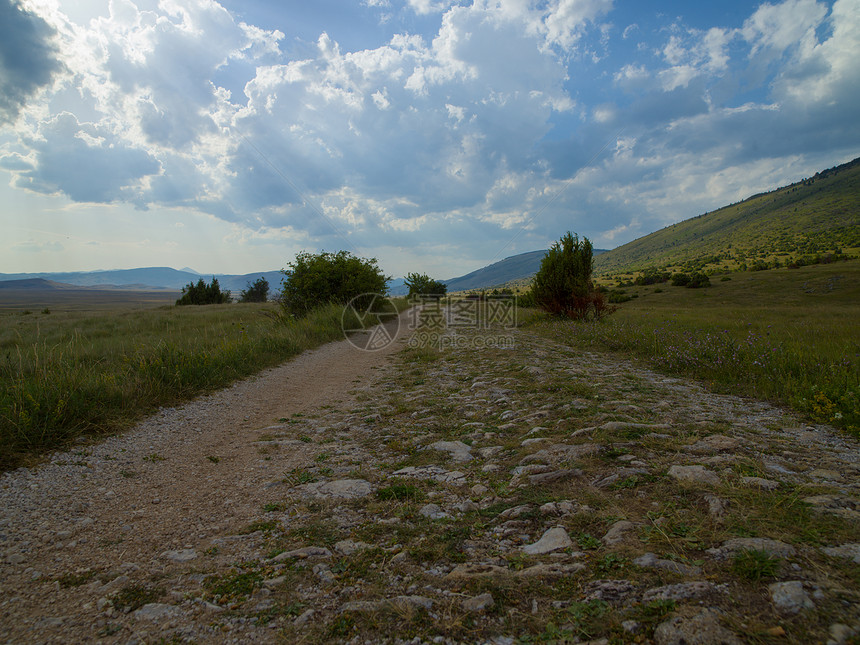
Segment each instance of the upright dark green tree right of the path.
M535 303L551 314L576 320L612 313L591 281L592 246L588 238L566 233L547 251L532 284Z

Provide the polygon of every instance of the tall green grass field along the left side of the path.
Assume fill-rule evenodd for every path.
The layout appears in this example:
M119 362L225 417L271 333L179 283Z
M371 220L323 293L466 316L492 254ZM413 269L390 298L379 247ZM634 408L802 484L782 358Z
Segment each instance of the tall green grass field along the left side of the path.
M242 304L4 314L0 469L342 338L342 312L331 305L284 320L271 305Z

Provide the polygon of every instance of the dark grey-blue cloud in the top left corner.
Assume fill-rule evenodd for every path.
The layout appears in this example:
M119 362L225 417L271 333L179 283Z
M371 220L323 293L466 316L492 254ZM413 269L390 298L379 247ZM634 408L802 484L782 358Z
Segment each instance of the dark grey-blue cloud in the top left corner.
M14 0L0 0L0 123L14 121L40 87L62 68L51 27Z

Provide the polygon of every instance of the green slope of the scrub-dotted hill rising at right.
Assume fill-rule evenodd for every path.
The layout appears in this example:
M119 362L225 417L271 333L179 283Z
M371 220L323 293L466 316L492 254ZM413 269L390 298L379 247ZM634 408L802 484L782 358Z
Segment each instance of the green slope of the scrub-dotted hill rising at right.
M596 274L743 270L860 251L860 158L672 224L595 258Z

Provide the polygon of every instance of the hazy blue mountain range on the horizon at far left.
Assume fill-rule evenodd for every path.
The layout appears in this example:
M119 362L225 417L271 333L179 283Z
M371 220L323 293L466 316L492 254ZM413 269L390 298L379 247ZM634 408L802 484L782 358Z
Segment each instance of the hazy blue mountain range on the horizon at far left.
M261 271L243 275L215 274L222 289L228 289L238 296L249 283L258 278L266 278L272 291L280 288L284 275L280 271ZM0 285L9 281L48 280L75 287L102 287L123 289L171 289L180 290L189 282L205 280L212 275L177 271L170 267L146 267L140 269L120 269L116 271L72 271L67 273L0 273ZM9 288L9 287L7 287ZM38 287L37 287L38 288Z

